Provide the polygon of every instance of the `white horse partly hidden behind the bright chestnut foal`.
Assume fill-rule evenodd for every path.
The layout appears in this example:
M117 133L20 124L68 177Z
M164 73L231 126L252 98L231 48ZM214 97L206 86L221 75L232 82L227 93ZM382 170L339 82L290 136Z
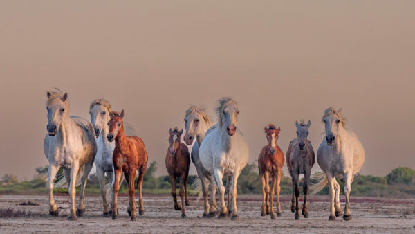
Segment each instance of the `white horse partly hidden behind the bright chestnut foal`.
M111 179L113 179L113 152L116 147L115 142L109 142L107 135L109 133L108 122L111 119L109 113L111 113L111 104L108 100L97 99L94 100L89 106L89 114L91 115L91 123L97 138L97 154L95 156L95 168L100 182L100 194L102 197L102 206L104 206L103 215L111 215L110 207L112 208L112 201L114 192L109 189L112 183L105 183L105 173L111 173ZM124 179L124 174L120 177L120 185ZM107 193L111 192L111 205L107 203Z

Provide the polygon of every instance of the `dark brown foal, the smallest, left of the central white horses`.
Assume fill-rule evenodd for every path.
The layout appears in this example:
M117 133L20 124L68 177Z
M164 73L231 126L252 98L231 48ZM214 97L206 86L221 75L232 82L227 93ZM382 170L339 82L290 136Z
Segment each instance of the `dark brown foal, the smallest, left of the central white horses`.
M172 196L174 201L174 210L182 210L182 218L186 217L185 206L189 206L187 197L187 176L189 175L190 154L187 145L180 142L183 129L178 131L170 129L169 148L166 154L166 169L169 172L170 185L172 186ZM182 206L177 203L176 197L176 178L180 178L180 198Z

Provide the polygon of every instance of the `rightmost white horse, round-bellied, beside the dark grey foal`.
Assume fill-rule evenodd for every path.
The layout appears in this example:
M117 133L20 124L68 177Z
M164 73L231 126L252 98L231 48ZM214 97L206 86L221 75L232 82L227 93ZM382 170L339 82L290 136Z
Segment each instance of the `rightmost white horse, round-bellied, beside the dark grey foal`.
M344 195L346 197L343 219L350 220L349 195L351 183L354 175L360 171L363 163L365 163L365 150L358 137L344 128L345 120L342 118L342 109L336 111L333 107L329 107L324 111L322 121L326 127L326 137L318 148L317 162L325 174L320 178L319 183L311 186L311 195L315 195L324 188L326 183L329 183L329 220L335 220L335 217L342 215L339 201L340 186L336 177L343 177Z

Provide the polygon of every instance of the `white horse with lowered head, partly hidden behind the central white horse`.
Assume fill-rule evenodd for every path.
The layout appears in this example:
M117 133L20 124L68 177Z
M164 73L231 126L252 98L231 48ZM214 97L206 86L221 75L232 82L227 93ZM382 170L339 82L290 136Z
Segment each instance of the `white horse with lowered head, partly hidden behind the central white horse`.
M184 136L184 141L187 145L192 145L194 141L194 136L196 136L196 142L192 147L192 162L196 167L197 175L201 182L201 190L203 193L203 199L205 201L205 210L203 212L203 217L215 217L219 212L216 207L216 181L214 177L208 172L199 159L199 146L201 145L205 134L210 128L210 118L206 114L206 109L201 107L196 107L194 105L190 106L185 113L185 129L186 134ZM207 182L210 181L210 206L208 204L208 188Z

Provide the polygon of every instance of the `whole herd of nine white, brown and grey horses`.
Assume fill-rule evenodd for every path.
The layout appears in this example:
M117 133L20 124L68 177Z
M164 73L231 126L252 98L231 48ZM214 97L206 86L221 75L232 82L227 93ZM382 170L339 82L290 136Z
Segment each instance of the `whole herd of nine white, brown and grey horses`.
M89 108L91 122L80 117L70 116L68 94L62 91L47 92L46 109L48 125L44 153L49 161L48 181L46 183L49 194L49 213L58 215L58 208L53 200L54 186L68 186L71 197L71 213L69 220L84 215L84 192L88 174L95 163L96 174L100 183L103 215L118 216L117 195L120 184L125 179L129 187L129 206L127 211L131 220L136 219L135 186L138 188L138 213L144 214L142 200L142 180L147 169L148 155L145 144L138 136L127 136L127 123L123 118L125 111L113 111L109 101L94 100ZM181 210L182 217L186 217L185 206L189 206L187 197L187 177L190 161L194 163L199 176L199 192L204 199L203 217L223 219L231 217L238 219L237 211L237 180L241 170L249 159L248 144L237 128L239 116L239 102L232 98L222 98L218 102L216 114L218 122L212 125L206 114L206 109L191 106L185 111L185 136L181 143L183 129L169 129L169 147L167 148L165 164L172 186L174 209ZM299 219L299 174L304 174L303 192L304 204L302 215L308 217L307 196L314 195L329 183L330 215L329 220L343 215L344 220L351 219L349 195L353 176L360 171L365 161L365 150L353 132L345 129L345 120L342 110L329 107L324 111L322 122L325 133L320 147L317 150L317 162L324 173L313 177L318 183L309 186L311 168L315 163L315 154L311 141L307 139L308 128L311 122L295 122L297 138L289 144L284 159L284 153L277 145L280 128L275 125L265 127L268 141L258 157L259 176L262 183L263 201L261 215L270 215L275 219L274 193L277 192L276 213L281 215L279 202L280 186L284 161L287 163L293 182L293 199L291 211L295 219ZM194 142L195 141L195 142ZM194 143L194 144L193 144ZM187 145L192 145L189 153ZM64 179L55 181L59 168L63 168ZM136 185L134 181L138 172ZM112 175L111 186L105 183L105 174ZM336 178L344 179L345 206L344 214L340 208L340 186ZM180 182L179 195L181 205L178 204L176 184ZM223 186L223 179L226 184ZM55 181L55 182L54 182ZM271 188L270 188L271 183ZM75 210L75 186L80 185L80 201ZM216 204L216 190L219 194L219 208ZM107 202L107 193L111 192L110 205ZM225 204L225 192L228 204ZM210 202L209 200L210 193Z

